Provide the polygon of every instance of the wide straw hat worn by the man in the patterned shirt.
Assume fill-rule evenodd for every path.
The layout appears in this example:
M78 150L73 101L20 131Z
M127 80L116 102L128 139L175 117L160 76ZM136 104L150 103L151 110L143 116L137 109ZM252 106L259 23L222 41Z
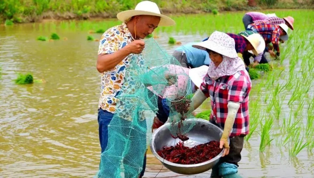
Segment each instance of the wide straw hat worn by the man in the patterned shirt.
M160 10L156 3L151 1L139 2L134 10L126 10L117 14L117 18L122 22L127 22L131 17L136 15L153 15L160 17L159 26L175 25L175 21L171 18L160 14Z

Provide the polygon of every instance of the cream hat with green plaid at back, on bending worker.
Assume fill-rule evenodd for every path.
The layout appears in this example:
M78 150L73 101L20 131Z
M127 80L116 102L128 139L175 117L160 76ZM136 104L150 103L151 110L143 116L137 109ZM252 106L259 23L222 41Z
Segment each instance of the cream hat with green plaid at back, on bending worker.
M252 50L252 53L256 56L264 51L265 41L259 33L255 31L242 31L239 33L239 35L243 36L247 41L252 44L254 48Z

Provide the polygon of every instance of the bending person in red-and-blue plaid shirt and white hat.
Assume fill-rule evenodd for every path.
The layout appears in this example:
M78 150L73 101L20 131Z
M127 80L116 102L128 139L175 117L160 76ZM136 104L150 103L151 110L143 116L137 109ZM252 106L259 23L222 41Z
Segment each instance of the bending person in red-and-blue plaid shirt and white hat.
M265 44L272 43L274 49L277 51L275 54L273 50L268 49L265 47L264 53L261 55L263 61L267 61L264 54L265 52L269 52L271 57L279 57L280 50L279 50L279 40L287 41L288 40L288 26L286 24L273 24L270 22L262 22L262 23L253 23L247 26L248 31L255 31L263 36ZM247 56L251 56L250 53L246 53ZM243 56L244 58L244 56ZM268 62L268 61L267 61ZM250 61L245 61L246 65L250 64Z

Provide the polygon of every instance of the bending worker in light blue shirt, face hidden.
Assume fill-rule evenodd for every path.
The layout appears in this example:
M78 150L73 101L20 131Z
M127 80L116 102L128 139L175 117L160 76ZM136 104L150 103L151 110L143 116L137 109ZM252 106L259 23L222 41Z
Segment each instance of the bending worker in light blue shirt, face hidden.
M209 65L209 55L206 51L192 47L198 42L187 43L175 49L173 56L180 62L182 67L197 68Z

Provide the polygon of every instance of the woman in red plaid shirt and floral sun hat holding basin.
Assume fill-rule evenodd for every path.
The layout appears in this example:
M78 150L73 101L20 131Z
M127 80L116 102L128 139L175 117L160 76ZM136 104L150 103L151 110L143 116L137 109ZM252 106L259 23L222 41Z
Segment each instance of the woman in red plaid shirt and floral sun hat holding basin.
M206 50L212 62L202 85L192 97L192 107L198 108L210 97L212 112L209 120L224 130L220 148L224 147L225 151L211 177L241 177L237 172L244 136L249 133L250 76L236 53L234 39L227 34L215 31L207 41L193 47Z

